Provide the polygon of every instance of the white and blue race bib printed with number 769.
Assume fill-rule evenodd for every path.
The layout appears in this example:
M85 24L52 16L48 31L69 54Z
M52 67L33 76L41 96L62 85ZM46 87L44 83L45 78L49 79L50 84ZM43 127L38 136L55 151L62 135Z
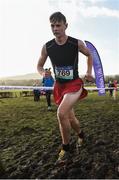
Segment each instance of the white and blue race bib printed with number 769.
M58 79L73 79L73 67L72 66L63 66L55 67L55 76Z

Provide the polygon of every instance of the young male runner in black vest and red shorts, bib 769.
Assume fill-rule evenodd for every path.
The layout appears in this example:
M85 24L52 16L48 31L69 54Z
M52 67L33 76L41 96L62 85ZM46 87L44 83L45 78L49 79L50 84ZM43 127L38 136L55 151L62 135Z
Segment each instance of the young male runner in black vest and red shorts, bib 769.
M78 100L87 96L87 91L83 87L83 81L78 74L78 52L87 56L85 78L89 81L93 79L92 56L81 40L66 35L65 31L68 24L66 17L61 12L53 13L49 19L55 38L43 46L37 69L41 75L44 73L43 66L49 56L56 79L54 100L59 105L57 118L62 137L62 149L57 163L62 163L69 157L70 128L73 128L77 133L79 145L81 145L84 138L73 109Z

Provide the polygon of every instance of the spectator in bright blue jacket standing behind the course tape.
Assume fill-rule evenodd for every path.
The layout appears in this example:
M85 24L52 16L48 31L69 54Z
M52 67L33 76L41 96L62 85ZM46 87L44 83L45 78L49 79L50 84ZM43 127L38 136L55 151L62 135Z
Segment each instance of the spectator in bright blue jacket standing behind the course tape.
M43 74L43 80L42 84L44 87L53 87L54 85L54 79L51 75L51 68L45 69L45 72ZM48 110L51 110L51 94L52 90L45 90L46 93L46 100L47 100L47 105L48 105Z

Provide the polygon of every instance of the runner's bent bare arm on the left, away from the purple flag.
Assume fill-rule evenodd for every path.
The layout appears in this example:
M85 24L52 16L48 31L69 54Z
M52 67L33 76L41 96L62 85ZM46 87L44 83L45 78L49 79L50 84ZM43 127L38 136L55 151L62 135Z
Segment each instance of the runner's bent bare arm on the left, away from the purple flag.
M38 64L37 64L37 70L41 75L43 75L45 72L43 66L46 62L47 57L48 57L48 55L47 55L47 51L46 51L46 45L44 45L41 50L41 55L39 57Z

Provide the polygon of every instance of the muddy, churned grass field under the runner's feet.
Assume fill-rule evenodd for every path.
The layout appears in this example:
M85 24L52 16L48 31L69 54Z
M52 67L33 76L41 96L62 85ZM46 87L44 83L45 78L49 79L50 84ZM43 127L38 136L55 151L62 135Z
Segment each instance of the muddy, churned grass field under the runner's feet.
M47 111L45 97L0 99L0 177L12 179L119 179L119 94L117 100L97 93L75 106L85 143L75 148L65 168L54 163L61 144L56 106Z

